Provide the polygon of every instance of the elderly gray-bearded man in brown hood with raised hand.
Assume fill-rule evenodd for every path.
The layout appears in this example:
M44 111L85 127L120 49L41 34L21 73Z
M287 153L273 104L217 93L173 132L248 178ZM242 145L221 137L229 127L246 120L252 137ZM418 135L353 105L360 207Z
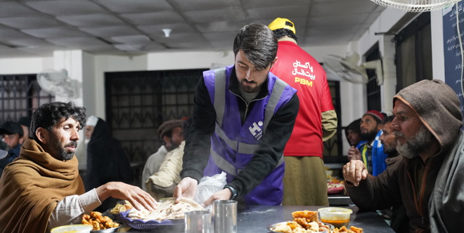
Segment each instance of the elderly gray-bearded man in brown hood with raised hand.
M350 161L343 167L349 196L369 210L402 201L409 232L462 232L464 140L456 93L442 81L423 80L393 102L391 128L403 158L377 177L362 161Z

